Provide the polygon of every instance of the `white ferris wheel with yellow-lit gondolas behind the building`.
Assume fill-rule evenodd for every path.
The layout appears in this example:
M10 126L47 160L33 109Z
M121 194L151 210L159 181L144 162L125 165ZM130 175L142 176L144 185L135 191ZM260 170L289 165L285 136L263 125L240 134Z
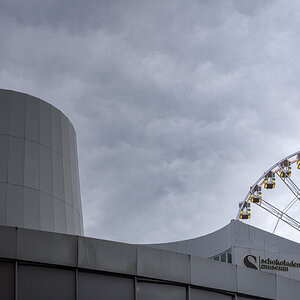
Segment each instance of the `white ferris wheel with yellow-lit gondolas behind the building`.
M250 187L250 190L244 200L239 203L239 210L236 216L236 220L250 219L250 206L251 203L254 203L278 218L273 233L275 232L279 221L283 221L300 231L300 222L287 214L288 210L297 201L300 201L300 189L291 179L293 164L296 164L297 169L300 169L300 151L297 151L281 159L256 180L256 182ZM294 197L283 210L278 209L263 198L262 187L266 190L274 189L277 185L276 178L284 183L284 185L290 190Z

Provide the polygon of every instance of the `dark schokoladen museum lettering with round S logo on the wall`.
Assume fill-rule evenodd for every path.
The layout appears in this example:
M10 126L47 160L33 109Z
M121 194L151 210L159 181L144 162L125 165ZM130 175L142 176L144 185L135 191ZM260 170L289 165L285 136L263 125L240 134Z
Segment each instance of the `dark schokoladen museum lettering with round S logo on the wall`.
M244 265L250 269L256 270L272 270L288 272L289 268L300 268L300 263L296 263L293 260L278 260L271 258L261 258L255 255L246 255L244 257Z

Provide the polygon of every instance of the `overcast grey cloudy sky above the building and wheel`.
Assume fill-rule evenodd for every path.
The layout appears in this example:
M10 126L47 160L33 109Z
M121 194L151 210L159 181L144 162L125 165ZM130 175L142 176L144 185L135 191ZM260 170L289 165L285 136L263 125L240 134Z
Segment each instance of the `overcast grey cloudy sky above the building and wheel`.
M73 122L87 236L214 231L300 150L299 12L296 0L0 0L0 87ZM253 208L249 224L275 223Z

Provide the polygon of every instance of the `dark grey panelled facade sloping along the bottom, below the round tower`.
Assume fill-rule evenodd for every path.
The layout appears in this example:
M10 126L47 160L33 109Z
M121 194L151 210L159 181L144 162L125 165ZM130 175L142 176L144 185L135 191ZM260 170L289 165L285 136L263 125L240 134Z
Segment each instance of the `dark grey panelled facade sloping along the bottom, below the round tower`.
M0 241L14 299L299 299L299 281L145 246L7 226Z

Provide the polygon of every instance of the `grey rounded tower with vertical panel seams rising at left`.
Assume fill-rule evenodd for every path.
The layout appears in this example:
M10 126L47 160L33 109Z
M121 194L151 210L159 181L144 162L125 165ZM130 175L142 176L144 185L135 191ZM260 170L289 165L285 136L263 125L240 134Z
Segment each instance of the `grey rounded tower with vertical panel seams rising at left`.
M43 100L2 89L0 225L83 235L73 125Z

